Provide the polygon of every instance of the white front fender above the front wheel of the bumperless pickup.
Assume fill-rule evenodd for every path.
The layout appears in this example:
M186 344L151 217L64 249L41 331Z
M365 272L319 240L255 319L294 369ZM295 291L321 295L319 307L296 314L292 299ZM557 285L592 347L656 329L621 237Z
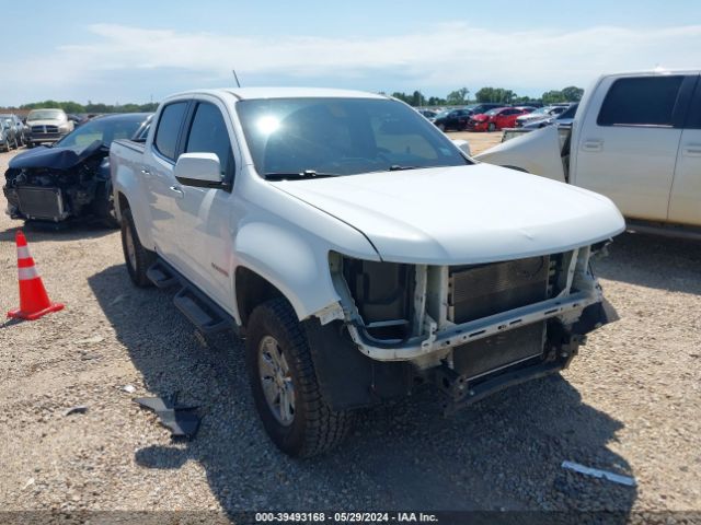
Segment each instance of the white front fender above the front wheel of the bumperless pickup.
M300 320L341 299L331 281L327 249L300 232L251 222L239 231L234 253L238 266L258 273L283 292Z

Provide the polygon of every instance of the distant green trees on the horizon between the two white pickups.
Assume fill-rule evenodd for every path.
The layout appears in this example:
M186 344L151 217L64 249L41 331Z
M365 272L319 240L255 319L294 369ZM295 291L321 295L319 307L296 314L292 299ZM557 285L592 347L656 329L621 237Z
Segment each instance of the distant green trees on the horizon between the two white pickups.
M474 93L474 98L470 100L470 90L460 88L451 91L445 98L439 96L426 97L421 91L413 93L403 93L395 91L392 93L394 98L405 102L411 106L462 106L471 102L496 102L501 104L526 104L528 102L540 102L543 104L554 104L558 102L579 102L584 90L575 85L568 85L562 90L551 90L544 92L540 98L530 96L519 96L514 91L504 88L481 88Z

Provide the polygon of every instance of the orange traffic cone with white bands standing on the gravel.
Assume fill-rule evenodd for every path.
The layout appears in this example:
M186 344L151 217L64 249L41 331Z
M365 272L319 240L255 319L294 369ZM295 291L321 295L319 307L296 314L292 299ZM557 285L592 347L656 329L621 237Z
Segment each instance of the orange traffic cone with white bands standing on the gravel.
M51 303L46 294L34 259L21 231L15 235L18 244L18 270L20 273L20 307L8 312L8 317L34 320L45 314L64 308L60 303Z

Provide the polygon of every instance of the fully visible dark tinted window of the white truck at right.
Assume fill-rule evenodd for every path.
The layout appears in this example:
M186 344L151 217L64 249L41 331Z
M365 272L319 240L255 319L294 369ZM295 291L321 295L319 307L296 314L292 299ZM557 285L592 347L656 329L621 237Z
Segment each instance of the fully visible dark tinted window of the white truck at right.
M606 94L599 126L673 126L682 75L619 79Z

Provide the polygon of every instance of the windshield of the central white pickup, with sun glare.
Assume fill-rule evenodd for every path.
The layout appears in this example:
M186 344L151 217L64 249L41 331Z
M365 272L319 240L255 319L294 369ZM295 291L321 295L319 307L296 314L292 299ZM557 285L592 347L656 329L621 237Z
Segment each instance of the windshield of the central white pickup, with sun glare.
M376 98L271 98L237 103L253 163L265 175L358 173L468 164L428 120Z

